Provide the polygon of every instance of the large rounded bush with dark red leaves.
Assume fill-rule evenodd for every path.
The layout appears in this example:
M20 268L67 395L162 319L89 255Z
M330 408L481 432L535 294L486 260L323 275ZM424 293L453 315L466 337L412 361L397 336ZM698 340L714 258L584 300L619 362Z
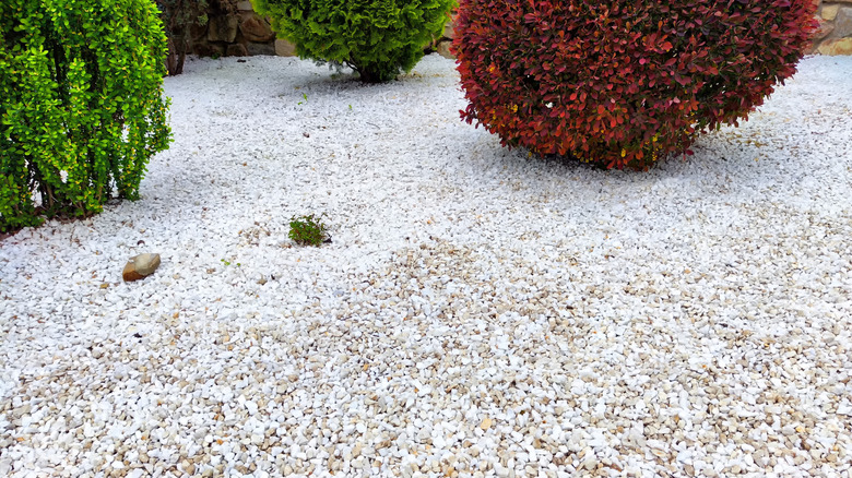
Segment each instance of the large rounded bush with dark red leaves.
M647 169L796 70L813 0L460 0L469 123L504 146Z

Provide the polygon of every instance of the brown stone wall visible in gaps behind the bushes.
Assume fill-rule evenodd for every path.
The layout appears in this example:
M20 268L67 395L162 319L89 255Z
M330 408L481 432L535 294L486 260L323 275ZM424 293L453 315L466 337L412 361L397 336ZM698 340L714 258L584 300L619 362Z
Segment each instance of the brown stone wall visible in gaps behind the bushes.
M852 55L852 0L813 0L817 7L819 31L808 52L821 55ZM292 57L295 47L286 40L275 39L275 33L267 19L255 13L251 2L237 1L236 13L211 15L206 25L196 27L192 51L203 57L244 57L251 55L279 55ZM452 58L452 22L447 24L443 36L427 46L428 51Z

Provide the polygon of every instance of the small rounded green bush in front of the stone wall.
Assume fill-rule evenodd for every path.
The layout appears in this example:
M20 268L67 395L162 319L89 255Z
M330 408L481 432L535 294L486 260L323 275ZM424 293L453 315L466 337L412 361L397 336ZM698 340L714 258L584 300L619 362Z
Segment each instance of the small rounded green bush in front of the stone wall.
M393 80L439 37L454 0L251 0L301 58L345 64L367 83Z

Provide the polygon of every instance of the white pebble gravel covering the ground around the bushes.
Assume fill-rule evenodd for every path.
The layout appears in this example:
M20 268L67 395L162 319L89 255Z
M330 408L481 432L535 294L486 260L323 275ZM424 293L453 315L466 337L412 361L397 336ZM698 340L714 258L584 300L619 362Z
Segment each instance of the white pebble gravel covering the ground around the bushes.
M0 476L850 476L852 58L649 174L439 57L187 70L142 200L0 242Z

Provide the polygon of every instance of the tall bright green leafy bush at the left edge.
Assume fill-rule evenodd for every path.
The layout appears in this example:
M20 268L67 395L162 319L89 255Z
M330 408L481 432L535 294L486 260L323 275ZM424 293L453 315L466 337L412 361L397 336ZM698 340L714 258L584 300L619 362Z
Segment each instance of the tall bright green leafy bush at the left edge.
M157 15L150 0L0 2L0 230L139 198L170 141Z

